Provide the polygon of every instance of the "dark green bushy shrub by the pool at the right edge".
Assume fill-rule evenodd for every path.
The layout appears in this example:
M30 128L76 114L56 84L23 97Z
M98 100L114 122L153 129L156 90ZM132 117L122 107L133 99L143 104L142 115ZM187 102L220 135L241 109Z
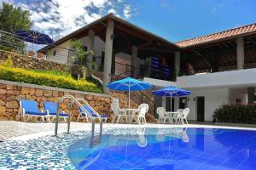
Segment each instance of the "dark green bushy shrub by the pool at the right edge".
M221 105L214 111L213 121L256 123L256 105Z

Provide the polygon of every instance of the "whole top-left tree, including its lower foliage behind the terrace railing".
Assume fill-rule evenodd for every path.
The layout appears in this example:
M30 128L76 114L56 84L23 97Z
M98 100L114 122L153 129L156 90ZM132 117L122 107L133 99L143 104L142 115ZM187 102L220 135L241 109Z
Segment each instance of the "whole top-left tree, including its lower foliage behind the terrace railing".
M15 37L14 33L17 30L29 30L31 26L29 11L14 7L9 3L2 3L2 6L0 5L0 31L4 32L0 32L2 34L0 48L23 52L26 44L20 38Z

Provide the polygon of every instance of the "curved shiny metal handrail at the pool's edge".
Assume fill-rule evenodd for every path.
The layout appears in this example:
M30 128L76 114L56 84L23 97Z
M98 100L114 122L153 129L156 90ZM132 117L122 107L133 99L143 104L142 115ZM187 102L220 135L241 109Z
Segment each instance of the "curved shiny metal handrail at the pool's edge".
M59 124L59 114L60 114L60 107L61 103L63 102L64 99L71 99L70 102L70 107L69 107L69 113L68 113L68 122L67 122L67 133L69 133L70 130L70 122L71 122L71 113L73 110L73 104L75 103L76 105L79 105L81 110L84 111L84 113L88 113L85 109L84 106L80 104L79 99L74 98L72 95L64 95L59 99L58 101L58 106L57 106L57 113L56 113L56 120L55 120L55 136L58 135L58 124ZM87 102L86 102L87 103ZM87 103L88 104L88 103ZM89 113L87 114L91 118L91 136L90 136L90 144L93 144L93 139L94 139L94 133L95 133L95 119L93 116L91 116ZM101 120L101 119L100 119ZM102 120L101 120L102 122ZM102 124L101 124L101 136L102 136ZM101 137L100 136L100 137Z

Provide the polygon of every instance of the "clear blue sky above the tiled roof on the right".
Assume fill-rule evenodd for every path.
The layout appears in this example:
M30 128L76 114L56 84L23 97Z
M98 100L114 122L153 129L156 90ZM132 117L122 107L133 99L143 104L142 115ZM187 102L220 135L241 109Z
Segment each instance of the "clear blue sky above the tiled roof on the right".
M177 42L256 22L255 0L130 1L132 23ZM135 3L136 2L136 3Z

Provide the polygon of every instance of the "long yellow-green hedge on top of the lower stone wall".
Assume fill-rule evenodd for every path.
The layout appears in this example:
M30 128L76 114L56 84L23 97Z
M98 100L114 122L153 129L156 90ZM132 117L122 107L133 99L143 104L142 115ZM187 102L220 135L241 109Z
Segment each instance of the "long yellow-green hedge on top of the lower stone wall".
M0 65L0 79L26 82L57 88L68 88L86 92L102 93L96 84L86 81L76 81L72 77L49 74L47 71L28 71Z

